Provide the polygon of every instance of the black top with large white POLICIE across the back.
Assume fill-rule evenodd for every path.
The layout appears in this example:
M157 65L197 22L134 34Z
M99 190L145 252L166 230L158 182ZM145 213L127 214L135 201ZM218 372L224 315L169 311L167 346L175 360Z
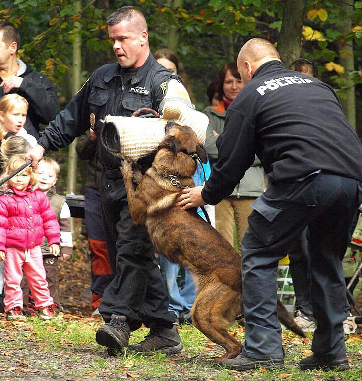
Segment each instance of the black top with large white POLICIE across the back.
M255 154L271 182L319 169L362 180L361 143L335 91L280 61L260 66L237 95L216 145L218 161L202 191L208 204L231 193Z

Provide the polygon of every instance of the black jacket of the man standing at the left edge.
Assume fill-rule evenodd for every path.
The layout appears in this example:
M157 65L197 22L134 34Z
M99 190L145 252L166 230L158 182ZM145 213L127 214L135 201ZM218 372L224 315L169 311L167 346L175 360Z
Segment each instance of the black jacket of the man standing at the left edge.
M39 124L47 125L59 112L57 90L46 75L34 71L21 60L18 60L18 63L20 71L23 71L18 76L24 79L21 86L11 90L10 94L19 94L28 101L29 110L24 128L30 135L38 139ZM0 98L3 95L3 89L0 87Z

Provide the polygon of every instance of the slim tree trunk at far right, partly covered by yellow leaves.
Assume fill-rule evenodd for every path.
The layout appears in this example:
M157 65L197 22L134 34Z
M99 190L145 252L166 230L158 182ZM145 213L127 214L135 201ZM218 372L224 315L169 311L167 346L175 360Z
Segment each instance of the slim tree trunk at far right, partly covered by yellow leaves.
M346 12L346 19L341 32L344 36L351 33L351 19L353 13L353 0L344 0L340 3L341 10ZM353 41L349 41L345 45L340 45L339 48L339 63L345 68L344 77L348 81L348 86L345 89L347 98L341 99L342 108L346 115L348 122L356 129L356 99L355 99L355 85L350 79L348 73L354 70L354 53Z

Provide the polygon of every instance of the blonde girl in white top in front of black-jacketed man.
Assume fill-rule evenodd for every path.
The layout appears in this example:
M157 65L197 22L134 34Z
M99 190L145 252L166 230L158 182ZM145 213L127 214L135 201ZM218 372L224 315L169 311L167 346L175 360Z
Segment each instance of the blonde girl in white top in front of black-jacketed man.
M32 147L37 145L36 138L24 128L28 107L28 101L18 94L6 94L0 99L0 141L16 135L25 138Z

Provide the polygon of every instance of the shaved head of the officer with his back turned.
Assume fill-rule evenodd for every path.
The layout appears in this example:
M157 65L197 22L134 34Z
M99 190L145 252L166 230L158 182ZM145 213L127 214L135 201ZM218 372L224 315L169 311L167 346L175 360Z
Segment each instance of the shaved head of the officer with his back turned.
M241 81L246 85L262 64L273 60L280 61L280 56L270 41L263 38L247 41L240 49L237 59Z

